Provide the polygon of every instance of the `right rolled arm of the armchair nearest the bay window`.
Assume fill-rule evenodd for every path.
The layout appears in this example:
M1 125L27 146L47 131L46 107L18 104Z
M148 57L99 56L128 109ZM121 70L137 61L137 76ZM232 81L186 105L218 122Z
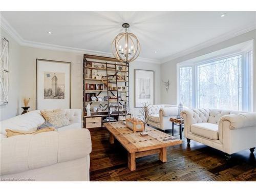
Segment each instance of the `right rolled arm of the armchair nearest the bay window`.
M256 113L230 114L221 117L220 122L229 121L229 129L237 130L243 127L256 126Z

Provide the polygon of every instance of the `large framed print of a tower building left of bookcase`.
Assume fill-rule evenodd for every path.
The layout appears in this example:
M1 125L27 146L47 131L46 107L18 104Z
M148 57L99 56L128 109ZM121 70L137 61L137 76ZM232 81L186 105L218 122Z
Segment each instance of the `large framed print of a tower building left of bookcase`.
M71 108L71 62L36 59L36 109Z

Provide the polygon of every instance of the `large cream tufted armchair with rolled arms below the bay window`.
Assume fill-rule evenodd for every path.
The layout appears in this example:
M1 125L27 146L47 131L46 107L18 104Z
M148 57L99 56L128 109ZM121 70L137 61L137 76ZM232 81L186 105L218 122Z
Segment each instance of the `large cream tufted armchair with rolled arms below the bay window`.
M181 112L184 136L230 155L256 146L256 113L219 109Z

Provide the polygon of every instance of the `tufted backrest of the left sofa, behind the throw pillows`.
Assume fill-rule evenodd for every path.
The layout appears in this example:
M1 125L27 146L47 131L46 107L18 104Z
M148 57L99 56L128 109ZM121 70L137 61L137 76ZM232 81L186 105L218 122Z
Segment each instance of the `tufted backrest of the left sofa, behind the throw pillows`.
M81 123L82 111L80 109L63 110L65 111L66 117L69 119L70 123ZM45 119L42 117L40 110L31 111L23 115L18 115L16 117L1 121L1 134L6 134L6 129L28 131L44 122Z

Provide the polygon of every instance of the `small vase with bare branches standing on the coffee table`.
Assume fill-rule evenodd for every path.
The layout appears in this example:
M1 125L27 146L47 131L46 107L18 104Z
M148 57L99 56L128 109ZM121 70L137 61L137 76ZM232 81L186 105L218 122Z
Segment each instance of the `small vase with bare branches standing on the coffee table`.
M141 136L147 136L148 134L145 132L145 126L148 121L152 118L150 115L153 113L150 112L151 104L148 102L142 103L141 111L139 111L139 119L143 122L143 131L140 133Z

